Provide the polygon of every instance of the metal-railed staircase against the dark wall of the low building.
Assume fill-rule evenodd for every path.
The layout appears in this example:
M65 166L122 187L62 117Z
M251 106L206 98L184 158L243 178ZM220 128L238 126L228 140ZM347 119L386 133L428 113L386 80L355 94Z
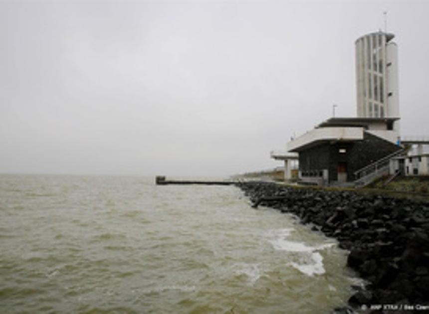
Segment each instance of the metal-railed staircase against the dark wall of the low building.
M400 149L388 156L385 156L365 167L354 172L356 180L353 182L355 187L367 186L379 177L389 174L389 163L393 157L406 154L407 149Z

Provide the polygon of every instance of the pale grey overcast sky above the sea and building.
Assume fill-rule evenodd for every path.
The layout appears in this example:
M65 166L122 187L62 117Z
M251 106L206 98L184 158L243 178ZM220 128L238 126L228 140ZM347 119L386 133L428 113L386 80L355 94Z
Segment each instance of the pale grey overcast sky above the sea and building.
M0 173L229 175L356 115L355 40L396 34L429 135L429 1L0 0Z

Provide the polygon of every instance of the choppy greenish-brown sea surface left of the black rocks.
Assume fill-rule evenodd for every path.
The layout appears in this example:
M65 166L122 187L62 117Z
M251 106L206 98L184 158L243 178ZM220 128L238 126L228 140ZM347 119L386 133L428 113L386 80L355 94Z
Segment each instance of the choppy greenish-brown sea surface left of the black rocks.
M1 313L331 313L346 252L234 186L0 175Z

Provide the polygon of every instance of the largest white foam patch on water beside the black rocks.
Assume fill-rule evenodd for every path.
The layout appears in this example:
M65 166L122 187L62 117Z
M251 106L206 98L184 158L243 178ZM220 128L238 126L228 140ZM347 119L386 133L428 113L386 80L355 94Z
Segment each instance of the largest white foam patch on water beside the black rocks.
M307 276L324 274L323 256L318 251L329 248L334 243L308 246L302 242L290 241L288 237L291 231L292 229L274 230L270 233L269 242L276 250L292 253L288 256L288 259L292 261L287 265L296 268Z

